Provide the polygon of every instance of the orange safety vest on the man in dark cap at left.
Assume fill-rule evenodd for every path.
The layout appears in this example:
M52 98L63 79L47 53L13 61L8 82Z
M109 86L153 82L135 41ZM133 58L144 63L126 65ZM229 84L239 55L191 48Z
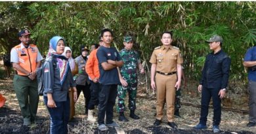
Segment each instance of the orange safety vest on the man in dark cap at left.
M16 52L18 52L18 64L26 71L32 73L35 71L37 66L37 46L30 44L28 48L21 48L22 44L14 46ZM18 75L27 75L18 71Z

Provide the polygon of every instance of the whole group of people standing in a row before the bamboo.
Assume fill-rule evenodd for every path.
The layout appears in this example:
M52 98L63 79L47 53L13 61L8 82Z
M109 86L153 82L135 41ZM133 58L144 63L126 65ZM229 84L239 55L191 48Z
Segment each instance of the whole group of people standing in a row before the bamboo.
M30 32L22 30L18 33L20 44L11 50L14 75L14 90L24 117L24 126L36 120L37 95L36 69L43 59L37 46L30 44ZM126 35L123 48L117 52L111 46L113 33L110 29L100 31L99 44L93 45L91 51L81 46L81 55L72 58L72 50L66 46L62 37L55 36L49 42L49 52L43 63L43 100L51 116L51 133L68 133L68 120L74 116L74 103L83 92L85 97L85 114L90 122L98 121L98 129L106 131L108 127L117 127L113 120L114 105L117 98L119 120L127 122L125 117L125 96L129 94L129 116L135 120L138 71L144 73L139 54L133 50L133 37ZM163 118L163 107L166 103L167 125L177 128L174 122L175 94L180 90L182 80L183 58L181 50L172 46L173 33L163 32L162 46L154 49L150 58L151 87L156 91L156 120L154 126L160 126ZM213 132L219 133L221 122L221 99L226 93L230 71L230 58L223 52L223 39L214 35L209 39L209 47L213 50L205 59L202 80L198 92L202 92L200 123L195 129L205 129L209 101L213 99ZM100 46L100 47L99 47ZM249 67L250 114L248 127L255 126L255 89L253 82L256 76L252 66L256 65L255 47L248 50L244 66ZM93 116L98 108L98 118ZM179 111L179 110L178 110Z

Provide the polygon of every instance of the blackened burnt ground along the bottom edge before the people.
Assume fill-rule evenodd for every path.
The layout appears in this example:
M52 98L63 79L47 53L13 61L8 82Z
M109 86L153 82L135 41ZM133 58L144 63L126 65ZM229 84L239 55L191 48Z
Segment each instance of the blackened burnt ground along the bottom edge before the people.
M22 116L16 110L11 110L9 107L3 107L0 109L0 133L1 134L9 134L9 133L17 133L17 134L43 134L49 133L49 117L45 116L37 116L37 123L32 124L31 126L22 126ZM82 124L81 122L85 122ZM74 127L83 126L84 129L79 129L78 131L74 131ZM85 120L80 118L75 118L74 120L69 122L70 133L91 133L87 131L87 128L91 127L90 124L86 124ZM146 126L145 126L146 127ZM86 129L85 129L86 128ZM117 131L114 127L108 127L108 131L100 132L98 131L96 125L93 127L95 134L116 134ZM138 128L130 129L125 131L128 134L212 134L211 129L171 129L170 127L165 126L149 126L146 127L145 130L141 130ZM221 131L223 134L233 134L234 131ZM236 131L238 134L253 134L251 131Z

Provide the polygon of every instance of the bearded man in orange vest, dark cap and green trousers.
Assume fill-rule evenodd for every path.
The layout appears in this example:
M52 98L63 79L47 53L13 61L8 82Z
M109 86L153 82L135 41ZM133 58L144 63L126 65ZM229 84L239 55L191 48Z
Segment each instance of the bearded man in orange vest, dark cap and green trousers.
M18 37L21 41L20 44L11 50L12 67L17 72L17 75L14 75L13 84L23 116L23 125L29 126L31 123L35 123L39 101L35 72L40 67L43 57L37 46L30 44L28 30L20 31Z

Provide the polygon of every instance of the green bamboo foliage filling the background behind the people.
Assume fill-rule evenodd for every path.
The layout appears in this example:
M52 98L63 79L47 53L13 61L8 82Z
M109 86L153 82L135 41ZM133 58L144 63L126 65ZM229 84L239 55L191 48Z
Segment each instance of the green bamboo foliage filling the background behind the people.
M48 51L49 39L60 35L77 56L81 44L98 42L100 29L108 27L114 31L114 46L119 50L123 36L133 35L135 49L148 63L154 47L161 45L161 33L171 30L188 76L199 79L210 52L205 40L218 34L232 59L230 75L244 80L244 54L256 42L255 6L253 2L1 2L0 48L7 51L7 42L15 41L17 31L28 28L42 54ZM16 30L7 39L10 27Z

